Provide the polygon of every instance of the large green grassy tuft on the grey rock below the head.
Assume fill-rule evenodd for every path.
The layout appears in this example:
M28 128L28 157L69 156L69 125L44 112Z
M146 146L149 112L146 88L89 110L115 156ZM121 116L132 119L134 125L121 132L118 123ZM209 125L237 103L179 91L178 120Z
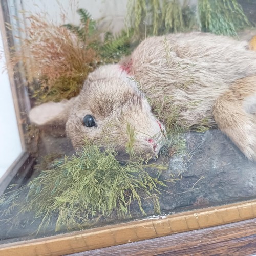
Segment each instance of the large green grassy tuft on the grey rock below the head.
M166 185L151 177L147 170L161 172L166 166L144 164L140 159L120 164L116 154L112 149L102 152L98 146L87 143L76 155L56 160L52 169L42 171L27 185L15 191L12 191L15 184L10 186L11 190L0 198L0 204L6 206L1 215L8 220L13 210L18 214L34 212L34 218L41 219L38 231L57 215L57 231L83 228L112 215L130 217L130 204L134 200L143 215L144 200L153 202L159 214L158 187ZM15 225L13 218L9 221Z

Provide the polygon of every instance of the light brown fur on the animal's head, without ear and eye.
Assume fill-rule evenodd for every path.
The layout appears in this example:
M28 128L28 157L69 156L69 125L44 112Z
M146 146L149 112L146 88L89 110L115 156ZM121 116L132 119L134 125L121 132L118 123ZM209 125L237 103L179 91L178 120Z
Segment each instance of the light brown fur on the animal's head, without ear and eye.
M117 68L116 65L107 67L103 68L109 70L106 74L98 73L102 70L99 69L89 76L70 113L66 125L68 136L76 148L84 143L86 134L98 144L114 145L117 149L123 149L129 140L129 123L137 136L134 150L152 157L154 145L150 146L152 143L147 140L160 140L162 132L159 124L144 95L136 88L136 83L123 76L119 68L112 76L111 72ZM86 114L94 116L97 127L87 128L81 125L81 120ZM160 145L157 152L159 149Z

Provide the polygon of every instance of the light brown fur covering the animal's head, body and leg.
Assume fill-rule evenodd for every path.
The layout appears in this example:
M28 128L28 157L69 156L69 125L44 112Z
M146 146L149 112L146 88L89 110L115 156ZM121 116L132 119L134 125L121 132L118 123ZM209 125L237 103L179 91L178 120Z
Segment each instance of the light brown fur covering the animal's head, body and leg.
M129 77L139 82L143 93ZM129 123L135 129L136 151L156 154L164 127L145 96L162 110L177 106L181 125L195 126L202 120L209 127L217 124L256 160L256 52L249 50L248 42L204 33L144 40L121 65L91 73L73 107L63 113L69 115L66 129L73 145L79 147L87 137L123 148ZM95 117L97 127L82 125L87 114Z

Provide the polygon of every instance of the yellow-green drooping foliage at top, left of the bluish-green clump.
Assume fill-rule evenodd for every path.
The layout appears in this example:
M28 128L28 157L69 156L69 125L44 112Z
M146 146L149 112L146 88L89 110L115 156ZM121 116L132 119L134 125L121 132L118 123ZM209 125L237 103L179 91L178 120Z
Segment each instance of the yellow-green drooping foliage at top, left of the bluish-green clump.
M195 15L188 1L129 0L126 26L134 29L137 38L189 31L195 24Z

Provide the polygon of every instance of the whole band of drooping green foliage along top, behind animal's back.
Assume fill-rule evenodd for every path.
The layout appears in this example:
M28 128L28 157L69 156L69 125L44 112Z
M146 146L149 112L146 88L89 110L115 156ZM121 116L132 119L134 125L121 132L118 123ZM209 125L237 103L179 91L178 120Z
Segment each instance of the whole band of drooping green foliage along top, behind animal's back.
M201 30L236 36L250 23L237 0L129 0L126 26L138 38L166 33Z

